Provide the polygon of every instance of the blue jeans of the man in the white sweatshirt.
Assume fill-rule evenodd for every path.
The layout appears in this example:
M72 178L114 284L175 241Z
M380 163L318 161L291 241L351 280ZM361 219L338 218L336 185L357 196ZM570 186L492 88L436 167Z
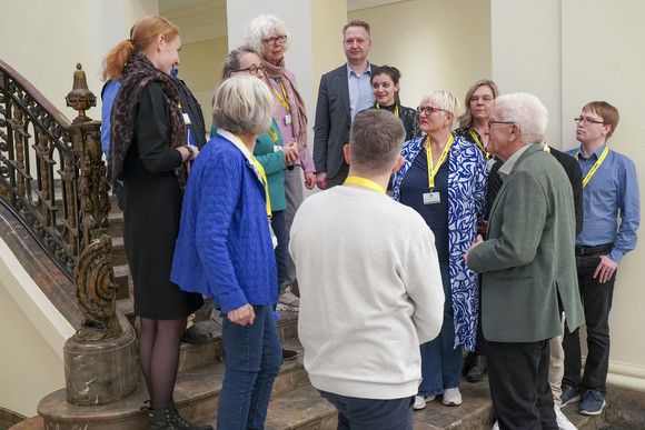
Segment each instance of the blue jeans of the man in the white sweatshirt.
M338 410L338 430L413 430L414 397L360 399L318 390Z

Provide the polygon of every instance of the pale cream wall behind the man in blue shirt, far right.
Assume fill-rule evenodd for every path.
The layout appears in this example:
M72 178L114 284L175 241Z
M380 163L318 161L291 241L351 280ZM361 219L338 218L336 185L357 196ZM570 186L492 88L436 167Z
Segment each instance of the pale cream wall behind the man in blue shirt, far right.
M645 39L641 0L492 0L493 78L506 92L538 96L549 110L547 139L572 149L573 119L591 100L607 100L621 111L611 147L631 158L645 190L645 153L639 142L645 97ZM522 19L517 19L522 17ZM641 229L641 236L643 229ZM611 313L609 383L645 390L645 302L638 264L643 240L618 266Z

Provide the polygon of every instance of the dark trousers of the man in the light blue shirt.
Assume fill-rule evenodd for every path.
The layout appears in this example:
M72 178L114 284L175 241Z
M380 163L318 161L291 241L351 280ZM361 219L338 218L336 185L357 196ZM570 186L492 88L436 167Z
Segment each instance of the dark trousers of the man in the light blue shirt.
M616 273L605 282L594 279L594 271L601 262L601 254L576 256L578 287L587 326L587 361L585 374L580 377L580 333L579 328L569 332L565 329L563 348L565 351L565 376L563 383L586 391L587 389L607 392L607 371L609 369L609 311L614 296Z

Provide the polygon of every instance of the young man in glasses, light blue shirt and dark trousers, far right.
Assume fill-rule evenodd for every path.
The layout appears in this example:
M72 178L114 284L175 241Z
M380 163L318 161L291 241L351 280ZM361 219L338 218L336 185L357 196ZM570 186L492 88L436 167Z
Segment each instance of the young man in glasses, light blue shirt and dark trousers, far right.
M607 147L618 124L618 110L605 101L583 108L575 157L583 171L583 231L576 238L578 286L587 324L587 360L580 377L578 329L565 331L562 406L582 397L579 412L599 414L605 407L609 364L609 310L621 258L636 247L641 218L634 162ZM618 227L618 217L621 226Z

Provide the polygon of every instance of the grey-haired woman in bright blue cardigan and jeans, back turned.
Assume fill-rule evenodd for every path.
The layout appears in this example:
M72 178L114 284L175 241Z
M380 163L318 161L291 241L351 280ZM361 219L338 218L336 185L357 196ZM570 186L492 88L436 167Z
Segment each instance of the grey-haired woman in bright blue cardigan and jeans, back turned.
M218 131L190 171L171 279L221 307L218 429L258 429L281 362L267 178L252 156L271 124L272 99L264 82L239 73L220 82L214 100Z

